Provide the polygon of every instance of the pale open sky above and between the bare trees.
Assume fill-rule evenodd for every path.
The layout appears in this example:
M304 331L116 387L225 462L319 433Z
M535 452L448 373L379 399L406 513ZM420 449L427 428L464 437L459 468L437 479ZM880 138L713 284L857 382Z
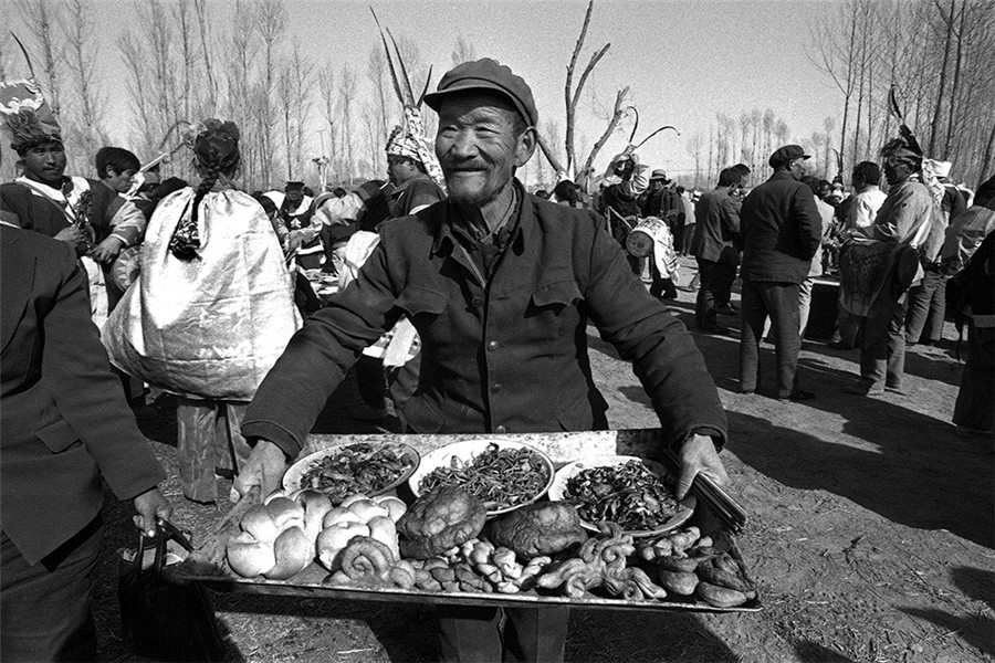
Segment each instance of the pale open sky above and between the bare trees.
M0 0L8 4L9 0ZM130 2L98 0L105 30L102 72L112 82L112 97L125 95L124 72L116 35L134 25ZM478 56L491 56L522 75L532 86L541 127L545 118L564 124L564 78L579 33L586 0L287 0L290 33L315 62L338 72L350 63L360 73L371 46L378 43L369 6L396 36L418 42L426 63L434 65L434 82L451 66L450 53L462 35ZM784 118L794 139L821 130L823 120L839 107L829 81L807 57L810 25L829 20L837 2L713 0L597 0L582 62L610 43L588 85L607 112L615 94L628 85L639 109L637 140L652 129L675 126L681 136L663 133L641 150L654 168L673 172L693 169L687 138L708 136L719 112L769 107ZM226 14L230 3L214 3ZM218 11L221 10L221 11ZM4 10L6 13L6 10ZM579 112L578 148L590 146L604 129L588 101ZM126 134L116 136L123 140ZM605 147L597 166L625 147L618 133ZM586 152L579 158L586 157Z

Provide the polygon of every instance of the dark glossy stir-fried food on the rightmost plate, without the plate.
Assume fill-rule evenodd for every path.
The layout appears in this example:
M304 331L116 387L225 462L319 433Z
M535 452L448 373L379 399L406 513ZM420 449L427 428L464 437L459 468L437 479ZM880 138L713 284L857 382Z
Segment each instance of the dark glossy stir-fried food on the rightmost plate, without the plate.
M639 461L590 467L567 480L564 499L591 524L617 523L627 532L656 529L677 514L672 486Z

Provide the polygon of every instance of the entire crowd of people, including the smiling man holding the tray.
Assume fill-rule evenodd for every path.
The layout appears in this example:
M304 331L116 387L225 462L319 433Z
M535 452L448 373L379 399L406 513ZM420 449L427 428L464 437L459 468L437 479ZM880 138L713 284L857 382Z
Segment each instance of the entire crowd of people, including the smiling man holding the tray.
M4 660L93 659L98 475L134 499L144 532L171 512L128 408L135 379L177 394L184 495L217 503L238 497L217 494L219 476L243 495L277 487L354 367L366 404L356 415L384 419L389 398L410 432L605 429L590 323L632 362L681 461L681 498L700 473L727 482L715 383L667 305L678 259L691 256L695 330L741 319L743 393L762 390L758 348L771 338L775 398L816 398L797 364L815 280L830 275L840 295L829 345L860 351L850 391L901 391L905 345L938 343L957 315L967 360L953 421L992 434L995 178L974 192L953 186L950 165L910 135L882 149L887 192L874 162L853 168L847 192L810 177L809 155L786 145L755 186L735 164L713 189L685 190L628 148L597 178L531 193L514 176L537 145L532 91L482 59L426 95L434 149L422 99L400 99L386 180L250 193L230 122L191 128L193 186L160 180L160 161L142 166L119 147L95 155L96 178L67 176L38 87L0 93L20 169L0 187ZM318 297L326 282L336 294ZM563 657L565 608L439 613L444 660Z

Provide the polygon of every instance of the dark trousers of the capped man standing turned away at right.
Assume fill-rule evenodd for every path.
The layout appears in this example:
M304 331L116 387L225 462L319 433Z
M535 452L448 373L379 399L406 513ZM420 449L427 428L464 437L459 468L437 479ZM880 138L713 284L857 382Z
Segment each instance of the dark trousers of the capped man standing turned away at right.
M799 334L797 283L743 282L743 315L740 333L740 389L753 391L760 379L760 343L764 323L771 317L777 365L777 398L788 398L795 386Z

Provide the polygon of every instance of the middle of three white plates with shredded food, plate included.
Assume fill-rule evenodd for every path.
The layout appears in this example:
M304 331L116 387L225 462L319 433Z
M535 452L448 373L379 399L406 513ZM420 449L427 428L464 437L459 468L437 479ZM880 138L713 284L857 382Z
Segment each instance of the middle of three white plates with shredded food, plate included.
M553 461L534 446L511 440L464 440L421 456L408 486L417 497L459 485L484 503L490 518L545 495L553 474Z

